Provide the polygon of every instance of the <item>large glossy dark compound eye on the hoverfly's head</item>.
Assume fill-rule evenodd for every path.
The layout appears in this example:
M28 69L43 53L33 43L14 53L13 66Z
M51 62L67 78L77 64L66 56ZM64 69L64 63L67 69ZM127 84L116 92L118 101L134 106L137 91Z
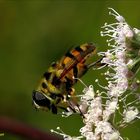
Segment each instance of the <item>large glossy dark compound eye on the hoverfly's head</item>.
M50 100L43 93L39 91L33 91L32 99L39 106L47 107L48 109L50 109L51 107Z

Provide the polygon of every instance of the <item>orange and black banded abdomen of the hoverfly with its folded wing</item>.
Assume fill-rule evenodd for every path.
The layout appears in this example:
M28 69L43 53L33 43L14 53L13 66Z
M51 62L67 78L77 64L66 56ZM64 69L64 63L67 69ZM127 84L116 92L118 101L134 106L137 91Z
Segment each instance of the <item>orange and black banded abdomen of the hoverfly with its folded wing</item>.
M61 64L64 67L60 79L62 79L70 70L73 69L74 74L77 73L77 64L85 63L87 57L94 53L96 50L95 46L91 43L83 44L74 48L73 50L67 52L65 56L61 59ZM75 76L74 75L74 76Z

